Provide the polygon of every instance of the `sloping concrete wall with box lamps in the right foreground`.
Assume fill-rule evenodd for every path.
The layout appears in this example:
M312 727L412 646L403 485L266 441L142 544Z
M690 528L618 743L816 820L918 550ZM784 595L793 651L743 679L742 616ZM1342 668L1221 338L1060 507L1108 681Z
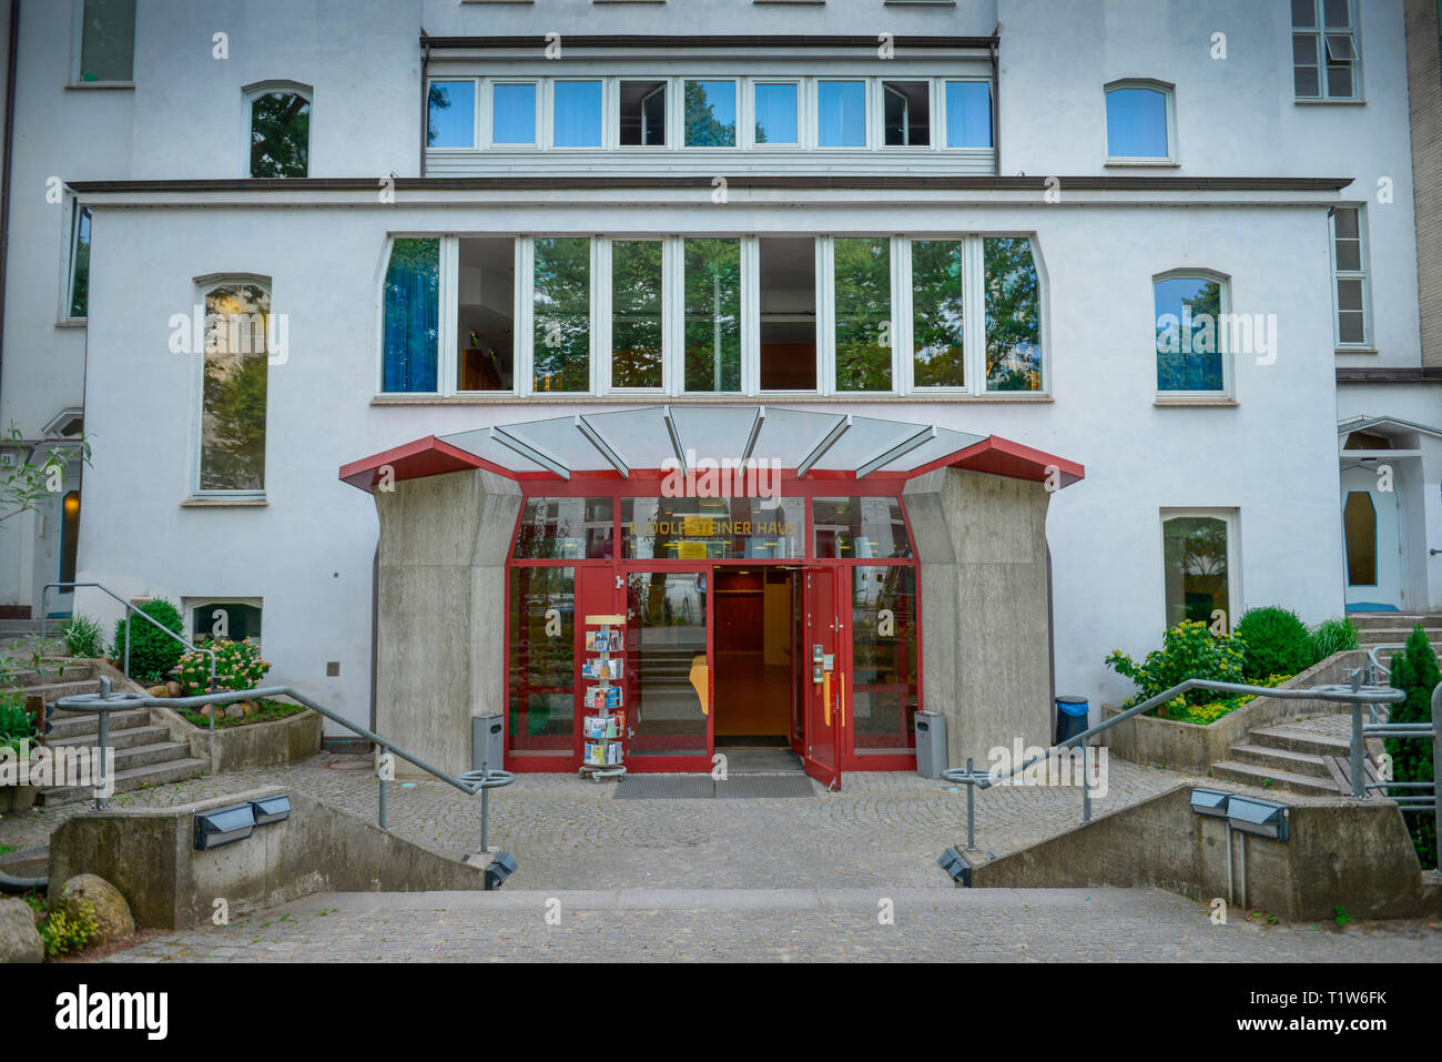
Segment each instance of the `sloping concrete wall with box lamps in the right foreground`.
M1210 786L1227 788L1227 786ZM972 872L973 887L1156 886L1201 900L1227 896L1227 830L1191 809L1191 785L1079 825ZM1423 874L1402 812L1389 801L1278 801L1289 841L1233 834L1236 882L1250 909L1282 918L1423 918L1442 913L1436 874Z

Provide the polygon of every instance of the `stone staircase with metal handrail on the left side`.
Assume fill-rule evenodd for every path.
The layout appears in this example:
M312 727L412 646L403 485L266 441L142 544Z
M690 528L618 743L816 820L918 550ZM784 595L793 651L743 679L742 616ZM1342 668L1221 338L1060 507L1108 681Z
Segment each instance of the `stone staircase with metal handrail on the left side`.
M20 672L14 690L25 697L42 697L46 706L61 697L99 693L99 677L94 664L66 664L62 675L46 668L43 672ZM99 737L99 717L92 713L56 710L50 716L50 733L45 743L50 747L91 747ZM170 732L154 726L150 708L131 708L110 714L110 745L115 750L115 792L130 792L146 785L182 782L205 773L209 765L193 759L185 742L170 740ZM56 785L40 789L36 802L42 807L91 799L89 785Z

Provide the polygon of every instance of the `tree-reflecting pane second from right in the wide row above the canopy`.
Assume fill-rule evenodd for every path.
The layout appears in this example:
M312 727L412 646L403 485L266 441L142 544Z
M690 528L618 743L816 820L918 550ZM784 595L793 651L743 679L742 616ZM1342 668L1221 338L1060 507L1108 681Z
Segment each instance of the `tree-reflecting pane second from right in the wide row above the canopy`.
M959 240L911 241L911 379L916 387L965 387L965 303Z

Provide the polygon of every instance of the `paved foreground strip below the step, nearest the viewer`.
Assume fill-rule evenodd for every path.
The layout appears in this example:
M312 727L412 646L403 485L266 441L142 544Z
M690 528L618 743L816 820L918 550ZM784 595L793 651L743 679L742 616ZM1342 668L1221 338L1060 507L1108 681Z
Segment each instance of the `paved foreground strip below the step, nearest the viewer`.
M883 900L894 923L881 922ZM549 906L548 906L549 905ZM552 922L547 921L551 912ZM1436 962L1417 922L1275 925L1154 889L329 893L167 934L110 962L1204 961Z

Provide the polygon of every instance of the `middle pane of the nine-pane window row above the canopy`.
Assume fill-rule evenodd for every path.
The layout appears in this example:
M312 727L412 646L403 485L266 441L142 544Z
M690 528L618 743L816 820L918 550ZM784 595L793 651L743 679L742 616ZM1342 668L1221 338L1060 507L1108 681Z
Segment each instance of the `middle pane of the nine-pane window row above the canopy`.
M686 391L741 390L741 241L686 240Z

